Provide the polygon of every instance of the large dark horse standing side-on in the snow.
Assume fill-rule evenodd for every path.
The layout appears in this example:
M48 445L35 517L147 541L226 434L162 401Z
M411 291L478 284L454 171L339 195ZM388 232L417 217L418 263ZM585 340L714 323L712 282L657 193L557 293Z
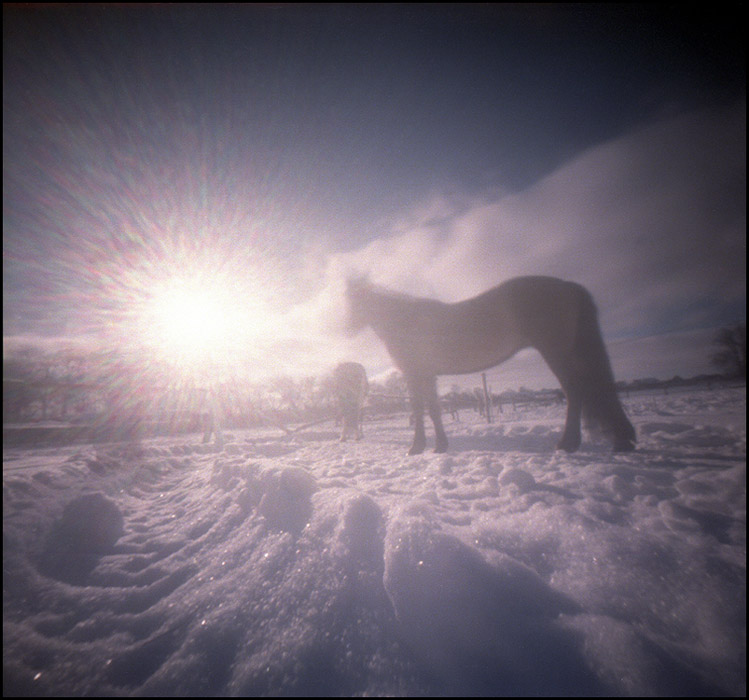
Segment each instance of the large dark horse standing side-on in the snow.
M581 285L554 277L516 277L453 304L413 297L350 279L347 326L369 326L403 373L411 397L414 439L408 453L426 447L424 407L434 424L436 452L447 451L437 377L481 372L519 350L538 350L567 399L558 449L574 452L580 420L600 429L614 450L634 449L635 430L619 401L598 312Z

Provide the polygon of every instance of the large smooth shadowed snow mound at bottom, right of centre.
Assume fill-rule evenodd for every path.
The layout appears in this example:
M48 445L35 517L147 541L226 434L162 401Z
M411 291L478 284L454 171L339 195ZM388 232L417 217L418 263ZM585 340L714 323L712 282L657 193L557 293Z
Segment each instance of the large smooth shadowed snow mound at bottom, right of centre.
M384 583L403 639L451 692L603 692L555 623L578 606L512 557L490 564L436 527L425 504L390 522Z

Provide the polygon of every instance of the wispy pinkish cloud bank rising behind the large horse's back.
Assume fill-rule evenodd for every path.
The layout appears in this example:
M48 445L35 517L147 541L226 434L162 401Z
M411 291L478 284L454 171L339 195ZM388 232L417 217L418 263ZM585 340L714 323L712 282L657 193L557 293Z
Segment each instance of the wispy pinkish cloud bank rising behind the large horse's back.
M305 308L340 315L341 280L354 272L445 301L545 274L587 286L607 339L631 351L638 337L725 323L745 314L745 123L744 102L681 115L591 148L522 192L435 195L361 249L331 255L328 286ZM704 371L697 345L693 361L673 346L672 369L653 373ZM640 351L663 352L653 347ZM639 376L648 362L623 369Z

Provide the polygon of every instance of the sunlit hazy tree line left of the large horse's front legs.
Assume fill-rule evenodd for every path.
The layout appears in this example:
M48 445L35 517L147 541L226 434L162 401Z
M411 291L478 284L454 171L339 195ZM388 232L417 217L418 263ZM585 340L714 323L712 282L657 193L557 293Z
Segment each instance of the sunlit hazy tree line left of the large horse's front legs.
M221 374L198 379L134 353L29 347L3 358L3 422L150 421L184 432L201 429L205 414L214 410L227 428L332 418L332 370L262 382ZM405 409L405 396L405 383L397 377L370 382L370 412Z

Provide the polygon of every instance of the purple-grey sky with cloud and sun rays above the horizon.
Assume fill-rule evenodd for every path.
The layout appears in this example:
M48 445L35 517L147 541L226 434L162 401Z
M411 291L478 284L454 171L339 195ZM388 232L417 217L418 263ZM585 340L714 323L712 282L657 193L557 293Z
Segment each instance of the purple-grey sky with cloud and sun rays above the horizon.
M592 292L617 378L712 371L746 317L740 15L4 4L4 350L156 342L180 280L234 304L250 376L378 376L346 276L456 301L544 274ZM491 379L555 385L528 352Z

